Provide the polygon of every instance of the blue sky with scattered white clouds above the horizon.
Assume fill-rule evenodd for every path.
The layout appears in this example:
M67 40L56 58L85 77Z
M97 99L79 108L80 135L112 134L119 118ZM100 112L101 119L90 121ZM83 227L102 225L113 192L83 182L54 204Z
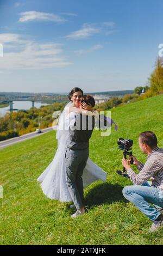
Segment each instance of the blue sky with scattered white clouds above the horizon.
M0 0L0 92L134 89L163 43L162 0Z

